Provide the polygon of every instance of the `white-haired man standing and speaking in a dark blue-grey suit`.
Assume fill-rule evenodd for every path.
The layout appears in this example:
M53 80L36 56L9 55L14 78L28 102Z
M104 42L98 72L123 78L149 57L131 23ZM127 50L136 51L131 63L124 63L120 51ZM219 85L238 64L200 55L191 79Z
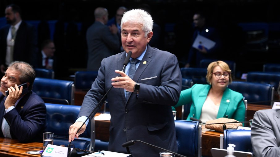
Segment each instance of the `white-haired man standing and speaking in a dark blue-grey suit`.
M146 11L125 12L121 20L121 42L125 52L102 60L78 119L69 128L69 142L85 131L83 122L89 116L93 118L101 108L99 101L111 89L103 99L108 100L111 114L109 151L135 157L158 157L162 150L143 143L122 147L127 141L142 140L177 152L172 106L179 100L182 75L174 54L149 46L152 28L152 17ZM130 61L122 72L130 51ZM134 76L130 76L134 71L130 67L136 69ZM95 107L97 110L90 115Z

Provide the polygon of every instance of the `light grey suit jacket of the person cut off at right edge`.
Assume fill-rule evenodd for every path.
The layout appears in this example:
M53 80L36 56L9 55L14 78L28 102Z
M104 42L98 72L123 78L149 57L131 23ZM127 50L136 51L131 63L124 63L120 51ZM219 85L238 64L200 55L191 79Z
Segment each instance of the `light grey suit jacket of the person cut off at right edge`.
M251 129L256 157L280 157L280 109L257 111Z

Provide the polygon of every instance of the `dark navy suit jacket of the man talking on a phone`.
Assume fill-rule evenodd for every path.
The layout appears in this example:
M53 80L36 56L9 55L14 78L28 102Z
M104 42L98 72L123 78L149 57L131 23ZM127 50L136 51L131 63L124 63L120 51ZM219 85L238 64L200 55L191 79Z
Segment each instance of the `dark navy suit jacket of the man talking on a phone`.
M43 142L46 132L46 106L44 101L34 92L22 97L14 109L5 112L4 95L0 93L0 122L6 119L10 126L11 137L21 143ZM5 112L5 113L4 113ZM4 137L0 129L0 136Z

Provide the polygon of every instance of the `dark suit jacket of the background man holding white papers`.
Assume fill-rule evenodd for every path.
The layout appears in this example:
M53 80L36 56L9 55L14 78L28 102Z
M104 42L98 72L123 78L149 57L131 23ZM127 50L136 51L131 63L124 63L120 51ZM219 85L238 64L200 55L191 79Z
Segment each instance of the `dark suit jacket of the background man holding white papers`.
M208 29L208 32L206 32L206 29ZM192 64L193 67L199 67L200 61L203 59L217 59L218 53L222 48L219 32L214 27L205 26L201 30L196 29L193 33L193 41L196 39L198 34L216 42L216 44L213 48L209 49L206 54L191 47L187 63L192 64L194 61L195 63Z

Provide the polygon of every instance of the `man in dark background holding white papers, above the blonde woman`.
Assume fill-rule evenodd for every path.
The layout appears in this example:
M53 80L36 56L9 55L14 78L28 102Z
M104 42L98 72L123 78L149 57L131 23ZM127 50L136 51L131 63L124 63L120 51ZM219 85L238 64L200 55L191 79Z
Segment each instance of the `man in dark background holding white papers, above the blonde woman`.
M193 45L189 50L189 56L187 58L187 63L185 64L185 67L187 68L200 67L199 63L203 59L217 59L217 53L221 48L219 33L214 27L209 27L206 25L206 18L204 13L195 13L193 15L193 24L195 27L192 40ZM208 42L198 41L198 37L201 37L203 39L206 38ZM197 44L194 43L196 41ZM212 45L212 43L214 43L214 46Z

